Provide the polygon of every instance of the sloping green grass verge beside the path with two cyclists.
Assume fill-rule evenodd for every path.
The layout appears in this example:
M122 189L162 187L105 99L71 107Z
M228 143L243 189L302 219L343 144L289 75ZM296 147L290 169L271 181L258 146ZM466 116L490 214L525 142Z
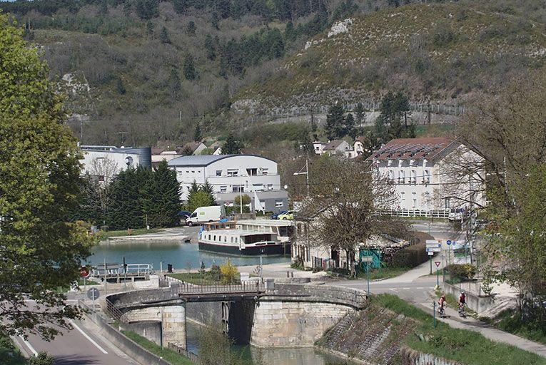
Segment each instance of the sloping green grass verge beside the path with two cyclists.
M440 321L434 328L432 315L393 294L377 295L372 298L372 303L417 319L421 323L415 328L415 334L410 334L404 340L405 344L417 351L469 365L546 364L546 359L537 354L509 344L491 341L475 331L455 329ZM419 334L427 341L421 341Z

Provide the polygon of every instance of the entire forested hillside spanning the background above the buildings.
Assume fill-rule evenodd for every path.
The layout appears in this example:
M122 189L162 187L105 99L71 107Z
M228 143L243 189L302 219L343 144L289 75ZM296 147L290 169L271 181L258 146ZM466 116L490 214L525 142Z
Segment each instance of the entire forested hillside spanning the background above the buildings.
M181 143L197 123L222 137L249 105L267 113L390 90L464 103L542 67L543 1L411 2L420 1L18 0L0 9L43 50L88 144ZM328 37L344 19L348 31Z

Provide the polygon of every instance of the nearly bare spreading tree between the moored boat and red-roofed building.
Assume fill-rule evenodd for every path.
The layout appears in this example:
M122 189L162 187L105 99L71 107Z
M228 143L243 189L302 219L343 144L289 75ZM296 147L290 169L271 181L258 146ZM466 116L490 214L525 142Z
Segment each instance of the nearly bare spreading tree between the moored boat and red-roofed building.
M360 242L380 233L405 234L405 224L375 214L390 209L396 198L392 183L372 176L367 165L321 157L309 170L311 197L299 216L308 220L312 245L345 251L351 272Z

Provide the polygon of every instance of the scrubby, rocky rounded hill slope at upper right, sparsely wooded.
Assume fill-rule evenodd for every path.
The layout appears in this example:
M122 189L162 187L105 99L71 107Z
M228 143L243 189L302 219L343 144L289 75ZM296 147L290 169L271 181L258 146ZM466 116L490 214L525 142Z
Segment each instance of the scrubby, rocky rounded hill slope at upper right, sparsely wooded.
M348 31L313 38L268 81L239 93L235 107L355 103L387 90L414 101L464 103L472 92L495 91L544 67L544 19L502 9L410 4L350 17Z

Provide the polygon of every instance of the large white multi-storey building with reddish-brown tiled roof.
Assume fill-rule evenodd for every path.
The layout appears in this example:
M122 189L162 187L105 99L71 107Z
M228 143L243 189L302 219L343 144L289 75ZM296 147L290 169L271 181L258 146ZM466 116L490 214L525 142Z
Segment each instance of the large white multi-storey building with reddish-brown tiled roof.
M451 208L485 205L480 178L457 175L456 165L477 160L465 145L443 137L391 140L367 159L395 185L398 203L393 210L440 217Z

